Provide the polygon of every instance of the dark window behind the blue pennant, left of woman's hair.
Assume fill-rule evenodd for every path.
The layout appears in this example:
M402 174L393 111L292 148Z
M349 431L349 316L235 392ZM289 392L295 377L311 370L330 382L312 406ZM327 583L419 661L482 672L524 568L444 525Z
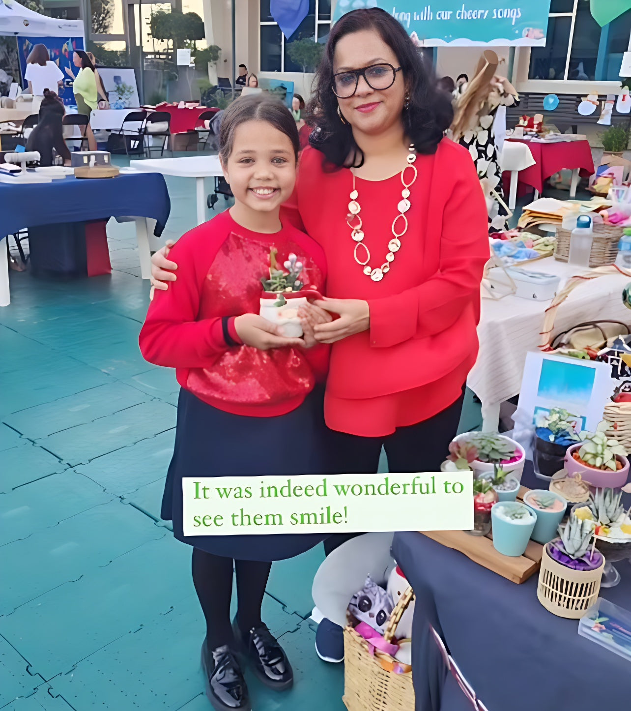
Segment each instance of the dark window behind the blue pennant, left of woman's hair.
M261 0L261 72L302 73L303 68L293 63L289 58L288 46L292 42L302 39L325 43L330 28L330 0L309 0L308 15L288 40L271 16L270 0Z

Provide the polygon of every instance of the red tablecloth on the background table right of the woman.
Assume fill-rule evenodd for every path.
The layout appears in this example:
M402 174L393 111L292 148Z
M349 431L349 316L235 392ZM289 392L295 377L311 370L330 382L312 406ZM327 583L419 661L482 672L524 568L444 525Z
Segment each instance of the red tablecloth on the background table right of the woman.
M525 143L536 161L534 166L519 171L519 183L529 185L539 193L544 190L544 182L561 169L579 169L583 178L588 178L594 173L594 161L591 154L589 141L560 141L559 143L533 143L521 139L507 139ZM510 173L505 173L505 178L510 180Z

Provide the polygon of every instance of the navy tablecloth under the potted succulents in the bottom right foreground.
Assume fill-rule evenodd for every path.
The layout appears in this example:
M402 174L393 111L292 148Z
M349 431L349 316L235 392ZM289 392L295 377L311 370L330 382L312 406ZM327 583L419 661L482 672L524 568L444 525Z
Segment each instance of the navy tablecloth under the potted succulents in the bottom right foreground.
M524 471L524 486L546 488ZM517 585L421 533L397 533L392 553L416 594L412 663L416 711L470 711L446 673L428 623L489 711L630 707L631 663L584 637L578 620L549 613L538 575ZM631 565L600 597L631 609Z

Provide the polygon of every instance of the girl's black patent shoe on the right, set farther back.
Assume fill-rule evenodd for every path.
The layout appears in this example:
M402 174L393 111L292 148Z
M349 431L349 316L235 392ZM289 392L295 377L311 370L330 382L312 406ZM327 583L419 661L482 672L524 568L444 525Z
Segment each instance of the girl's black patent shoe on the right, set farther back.
M271 689L282 691L293 685L293 669L284 649L271 634L267 626L253 627L244 638L237 621L232 623L234 639L259 680Z

